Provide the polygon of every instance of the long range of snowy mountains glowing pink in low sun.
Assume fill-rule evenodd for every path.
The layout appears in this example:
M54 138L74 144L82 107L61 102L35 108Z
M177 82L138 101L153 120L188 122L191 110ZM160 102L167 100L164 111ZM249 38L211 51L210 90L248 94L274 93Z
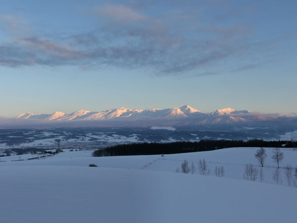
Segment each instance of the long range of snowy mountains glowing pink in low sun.
M217 123L247 123L259 121L290 121L292 117L282 114L264 114L260 112L250 112L247 110L236 110L226 108L210 113L199 111L190 106L168 109L112 109L105 111L85 111L79 110L69 114L56 111L52 114L22 113L17 119L45 120L45 121L91 121L91 120L121 120L121 121L141 121L141 123L154 120L179 125L205 125ZM294 118L295 119L295 118Z

